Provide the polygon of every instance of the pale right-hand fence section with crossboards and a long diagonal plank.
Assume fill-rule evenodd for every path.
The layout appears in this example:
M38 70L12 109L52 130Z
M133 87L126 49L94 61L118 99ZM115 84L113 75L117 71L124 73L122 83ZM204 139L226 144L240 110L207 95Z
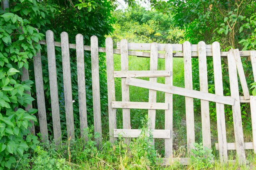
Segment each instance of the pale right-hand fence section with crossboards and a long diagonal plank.
M247 87L245 74L240 59L240 55L248 55L249 51L239 51L238 49L231 49L229 52L221 52L218 42L214 42L212 45L206 45L204 42L199 42L198 45L191 45L189 42L184 42L183 45L181 45L157 44L155 42L151 44L128 43L126 40L121 40L121 42L117 44L117 47L120 49L121 53L121 71L114 71L113 69L114 60L112 39L106 39L106 60L109 96L108 103L111 141L114 141L118 136L122 136L128 139L132 137L138 137L141 130L132 129L132 125L130 123L130 109L148 109L148 130L150 130L150 132L153 134L153 138L165 139L164 165L171 164L173 163L173 161L180 161L180 163L182 164L189 164L189 158L173 158L172 94L178 94L185 96L188 156L191 154L191 149L193 149L193 143L195 143L193 98L198 98L201 100L203 146L211 149L209 101L213 101L216 102L218 129L218 143L216 143L216 148L220 152L221 162L227 163L227 150L236 149L239 163L246 163L245 149L254 149L255 144L254 142L244 143L240 103L251 102L253 136L254 138L256 136L254 134L256 121L254 118L254 114L256 114L256 99L255 97L249 95L249 90ZM150 53L138 50L150 50ZM158 51L165 51L165 54L159 54ZM175 51L175 53L173 51ZM256 74L256 64L254 63L256 62L255 54L256 53L254 51L251 51L254 75ZM128 55L149 57L150 70L129 71ZM185 88L175 87L172 85L173 56L184 58ZM213 58L216 94L210 94L208 92L207 56L212 56ZM195 91L192 87L191 57L198 57L199 59L200 91ZM227 57L228 59L231 96L223 95L221 57ZM158 58L165 58L165 70L157 70ZM244 96L239 96L237 71ZM122 101L115 101L114 78L117 77L121 78ZM149 81L138 79L139 77L149 77ZM165 77L165 84L157 83L157 77ZM149 89L148 102L130 102L129 85ZM165 103L156 103L156 91L165 92ZM236 140L235 143L227 143L224 112L225 104L232 105L234 132ZM122 108L123 110L124 129L117 129L115 108ZM155 130L156 110L165 110L164 130ZM129 140L126 140L126 142L128 143ZM154 145L154 141L152 144Z

